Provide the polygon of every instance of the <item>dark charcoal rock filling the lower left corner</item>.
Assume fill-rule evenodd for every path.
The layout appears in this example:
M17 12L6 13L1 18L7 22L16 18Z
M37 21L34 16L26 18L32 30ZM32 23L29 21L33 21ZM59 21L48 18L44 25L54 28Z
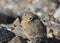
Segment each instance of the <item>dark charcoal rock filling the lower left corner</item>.
M13 32L8 31L6 29L0 29L0 42L1 43L7 43L14 37L15 37L15 34Z

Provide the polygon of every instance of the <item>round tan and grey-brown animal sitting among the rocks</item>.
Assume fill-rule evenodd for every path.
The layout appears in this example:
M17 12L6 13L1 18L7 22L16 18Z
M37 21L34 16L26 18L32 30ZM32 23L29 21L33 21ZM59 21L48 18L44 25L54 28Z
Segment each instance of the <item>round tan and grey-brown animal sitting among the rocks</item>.
M32 43L40 43L46 36L46 26L32 12L25 12L23 14L21 25L24 34Z

